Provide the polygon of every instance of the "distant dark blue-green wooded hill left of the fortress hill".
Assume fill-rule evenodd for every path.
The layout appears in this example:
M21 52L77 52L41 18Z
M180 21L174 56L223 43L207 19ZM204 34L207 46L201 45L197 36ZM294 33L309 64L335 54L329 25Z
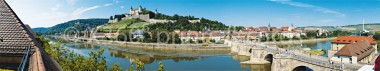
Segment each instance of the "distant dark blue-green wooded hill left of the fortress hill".
M95 28L96 26L106 24L108 19L77 19L64 22L49 28L33 28L33 30L39 34L56 34L65 31L67 28L74 27L79 31L83 31L86 28Z

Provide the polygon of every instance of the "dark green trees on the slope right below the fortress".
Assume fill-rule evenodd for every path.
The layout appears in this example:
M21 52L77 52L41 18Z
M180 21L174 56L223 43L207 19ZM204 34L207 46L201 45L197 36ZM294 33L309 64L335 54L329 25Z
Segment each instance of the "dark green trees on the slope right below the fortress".
M180 16L174 14L173 16L165 15L162 13L152 13L151 11L143 11L143 13L153 14L154 19L166 19L166 20L176 20L177 22L167 22L167 23L156 23L148 25L150 29L156 30L192 30L192 31L202 31L202 30L226 30L229 27L225 24L206 19L206 18L195 18L194 16ZM189 20L200 20L200 22L190 23Z

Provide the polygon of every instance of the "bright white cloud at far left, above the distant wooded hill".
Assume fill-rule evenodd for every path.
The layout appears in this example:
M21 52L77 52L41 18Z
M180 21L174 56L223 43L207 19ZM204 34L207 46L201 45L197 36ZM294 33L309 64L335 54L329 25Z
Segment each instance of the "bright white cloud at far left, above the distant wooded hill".
M112 0L109 4L96 6L74 5L79 4L79 1L82 0L7 0L23 23L29 24L32 28L51 27L70 20L86 18L81 15L114 5Z

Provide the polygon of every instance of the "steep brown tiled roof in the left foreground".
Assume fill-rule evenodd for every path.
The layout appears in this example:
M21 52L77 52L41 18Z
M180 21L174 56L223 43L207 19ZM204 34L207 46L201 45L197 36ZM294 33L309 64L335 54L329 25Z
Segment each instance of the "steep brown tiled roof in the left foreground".
M24 54L30 46L41 47L35 38L38 36L33 35L33 31L22 23L5 0L0 1L0 13L0 53Z

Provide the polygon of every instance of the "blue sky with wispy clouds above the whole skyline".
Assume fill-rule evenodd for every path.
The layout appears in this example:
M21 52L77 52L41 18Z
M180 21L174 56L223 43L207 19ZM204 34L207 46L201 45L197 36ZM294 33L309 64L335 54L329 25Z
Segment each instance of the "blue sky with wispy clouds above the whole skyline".
M233 26L341 26L380 22L380 0L6 0L25 24L51 27L74 19L109 18L142 5Z

